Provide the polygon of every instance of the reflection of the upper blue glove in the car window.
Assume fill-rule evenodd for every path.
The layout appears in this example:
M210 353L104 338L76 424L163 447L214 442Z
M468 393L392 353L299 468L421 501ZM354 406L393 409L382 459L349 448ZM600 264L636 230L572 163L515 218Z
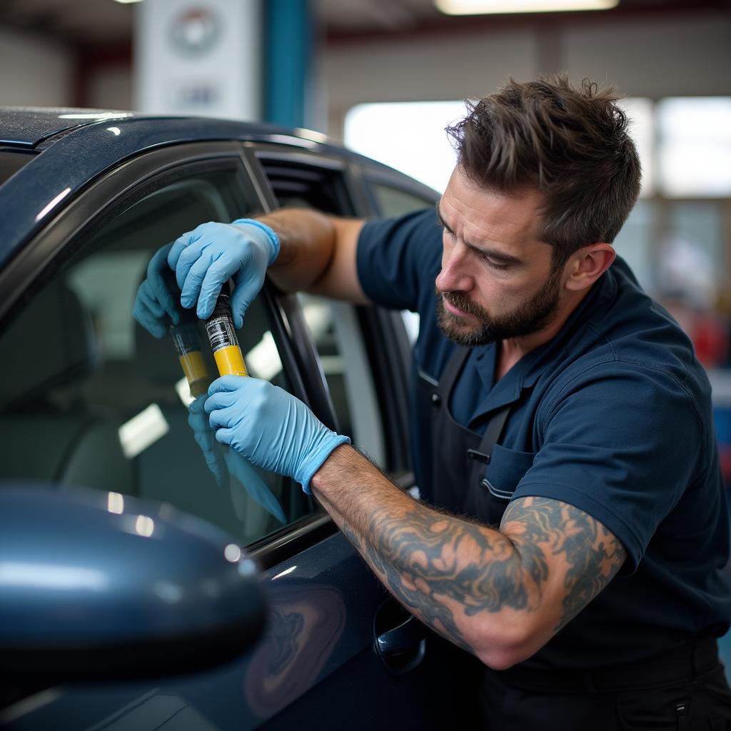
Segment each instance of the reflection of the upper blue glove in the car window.
M172 277L167 266L167 254L172 248L173 244L167 243L155 252L147 265L147 279L137 289L135 306L132 308L133 317L156 338L167 335L171 321L173 325L180 325L181 322L178 295L173 293L175 282L170 281Z

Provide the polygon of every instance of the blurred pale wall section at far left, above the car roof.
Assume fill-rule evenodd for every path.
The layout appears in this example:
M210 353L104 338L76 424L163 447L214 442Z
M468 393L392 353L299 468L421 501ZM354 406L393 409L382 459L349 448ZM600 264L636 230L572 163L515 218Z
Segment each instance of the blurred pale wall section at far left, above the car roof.
M60 42L0 27L0 106L68 106L73 63Z

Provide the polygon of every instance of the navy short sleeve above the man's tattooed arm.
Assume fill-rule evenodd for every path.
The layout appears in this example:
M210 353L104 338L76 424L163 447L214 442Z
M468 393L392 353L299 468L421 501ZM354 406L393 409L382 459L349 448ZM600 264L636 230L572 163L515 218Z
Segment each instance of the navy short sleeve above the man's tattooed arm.
M675 376L603 363L563 381L537 416L541 448L513 499L541 496L587 512L637 568L660 521L700 477L702 421Z

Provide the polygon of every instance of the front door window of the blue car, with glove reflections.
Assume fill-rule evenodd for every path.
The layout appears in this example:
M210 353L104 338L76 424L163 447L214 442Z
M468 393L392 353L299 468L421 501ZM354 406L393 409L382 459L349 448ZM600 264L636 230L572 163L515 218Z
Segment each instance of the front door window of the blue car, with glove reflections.
M190 394L175 333L154 338L132 317L160 247L204 221L245 215L238 175L168 183L67 246L77 253L31 293L0 338L0 477L164 501L244 545L314 512L298 485L217 444L205 414L189 419L189 406L202 402ZM186 327L200 344L199 370L213 379L205 328L195 319ZM238 340L252 376L289 390L263 295Z

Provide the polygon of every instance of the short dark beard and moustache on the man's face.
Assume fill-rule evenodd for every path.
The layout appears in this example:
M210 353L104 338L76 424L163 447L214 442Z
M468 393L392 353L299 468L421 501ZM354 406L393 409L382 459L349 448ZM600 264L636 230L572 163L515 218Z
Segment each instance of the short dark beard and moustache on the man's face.
M497 317L466 298L461 292L439 292L436 290L436 322L447 338L458 345L487 345L508 338L520 338L532 335L548 325L558 311L561 292L562 267L554 267L548 279L530 300L524 302L512 312ZM464 319L453 315L444 307L446 299L455 307L468 312L480 320L478 325L469 327Z

